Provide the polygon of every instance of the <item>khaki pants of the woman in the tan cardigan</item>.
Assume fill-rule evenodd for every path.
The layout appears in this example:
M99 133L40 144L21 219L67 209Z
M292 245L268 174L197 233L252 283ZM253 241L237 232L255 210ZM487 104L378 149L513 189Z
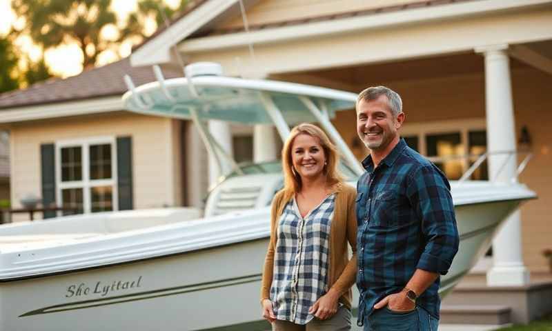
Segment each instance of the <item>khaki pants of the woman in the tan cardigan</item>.
M272 324L273 331L348 331L351 330L351 310L344 305L330 319L317 319L316 317L306 325L279 321Z

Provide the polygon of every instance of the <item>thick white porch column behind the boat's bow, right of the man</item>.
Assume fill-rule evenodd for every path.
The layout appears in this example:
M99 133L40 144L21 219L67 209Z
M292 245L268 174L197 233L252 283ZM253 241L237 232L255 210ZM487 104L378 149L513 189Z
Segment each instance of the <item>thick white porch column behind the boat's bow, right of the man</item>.
M487 148L489 152L515 150L515 121L507 45L477 48L485 57L485 100ZM511 183L516 177L517 157L489 157L489 179ZM522 259L520 212L506 219L493 241L493 267L487 272L488 285L525 285L529 272Z

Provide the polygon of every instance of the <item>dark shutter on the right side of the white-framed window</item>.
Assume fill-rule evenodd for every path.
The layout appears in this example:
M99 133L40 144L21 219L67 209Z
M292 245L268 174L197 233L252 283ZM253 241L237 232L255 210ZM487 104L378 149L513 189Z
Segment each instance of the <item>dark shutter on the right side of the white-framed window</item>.
M132 139L130 137L117 137L117 190L119 210L133 209Z

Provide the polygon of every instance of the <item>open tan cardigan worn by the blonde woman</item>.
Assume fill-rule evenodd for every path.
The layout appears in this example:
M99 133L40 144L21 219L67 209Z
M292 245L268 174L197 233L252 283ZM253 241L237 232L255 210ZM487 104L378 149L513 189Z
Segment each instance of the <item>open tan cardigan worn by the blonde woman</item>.
M338 184L333 189L335 193L335 209L330 228L328 287L337 290L341 295L339 301L351 308L353 294L351 286L357 275L357 217L355 199L357 190L349 185ZM277 241L277 223L291 197L285 197L279 191L273 199L270 212L270 243L264 259L264 272L261 287L261 303L270 299L270 285L273 281L274 251ZM348 259L347 241L353 248L353 256Z

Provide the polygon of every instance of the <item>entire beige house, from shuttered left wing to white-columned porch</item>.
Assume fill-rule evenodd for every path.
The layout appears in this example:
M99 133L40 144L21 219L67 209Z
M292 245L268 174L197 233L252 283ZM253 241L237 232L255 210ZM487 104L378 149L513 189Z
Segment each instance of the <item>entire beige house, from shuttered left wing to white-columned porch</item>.
M206 192L207 167L205 151L197 147L197 133L186 121L130 114L120 103L126 90L121 84L123 74L129 74L136 85L153 81L151 74L145 79L133 70L154 64L177 66L173 55L177 50L187 63L221 63L227 76L351 92L375 85L393 88L404 102L402 136L450 179L460 178L477 154L491 152L489 162L472 179L518 180L538 194L506 222L493 242L493 259L481 261L487 283L529 293L529 274L549 274L542 251L552 248L546 235L552 204L552 134L548 130L552 123L548 111L552 106L552 1L243 2L245 12L239 0L192 1L170 27L133 50L130 64L124 60L124 65L110 65L118 70L106 66L78 76L112 74L119 88L112 94L63 97L63 92L71 91L69 86L79 86L75 77L75 81L65 80L70 83L53 101L42 96L29 104L25 95L32 95L34 88L53 90L48 84L61 86L62 81L1 96L0 128L10 130L12 140L12 202L17 204L21 194L34 192L48 197L47 201L70 201L83 212L108 205L114 210L199 205ZM101 84L90 90L105 88ZM355 110L340 112L333 123L362 159L368 151L352 130ZM228 149L243 159L277 155L277 146L266 143L270 141L266 128L213 125L217 126L213 132L233 141ZM130 163L117 165L116 171L117 141L124 137L131 138L132 150L127 154L132 158L122 157ZM253 146L269 146L271 152L259 156L262 151ZM516 150L517 158L511 156ZM45 153L50 154L45 157ZM106 159L109 153L111 159ZM529 154L532 158L518 176L517 165ZM82 174L77 170L81 165L86 169ZM119 188L129 181L128 173L117 179L92 179L96 176L92 168L106 169L106 165L111 165L112 174L123 169L132 172L132 189ZM49 191L41 192L44 188ZM120 201L121 192L132 192L131 205ZM515 312L514 321L535 318L529 313L517 316Z

